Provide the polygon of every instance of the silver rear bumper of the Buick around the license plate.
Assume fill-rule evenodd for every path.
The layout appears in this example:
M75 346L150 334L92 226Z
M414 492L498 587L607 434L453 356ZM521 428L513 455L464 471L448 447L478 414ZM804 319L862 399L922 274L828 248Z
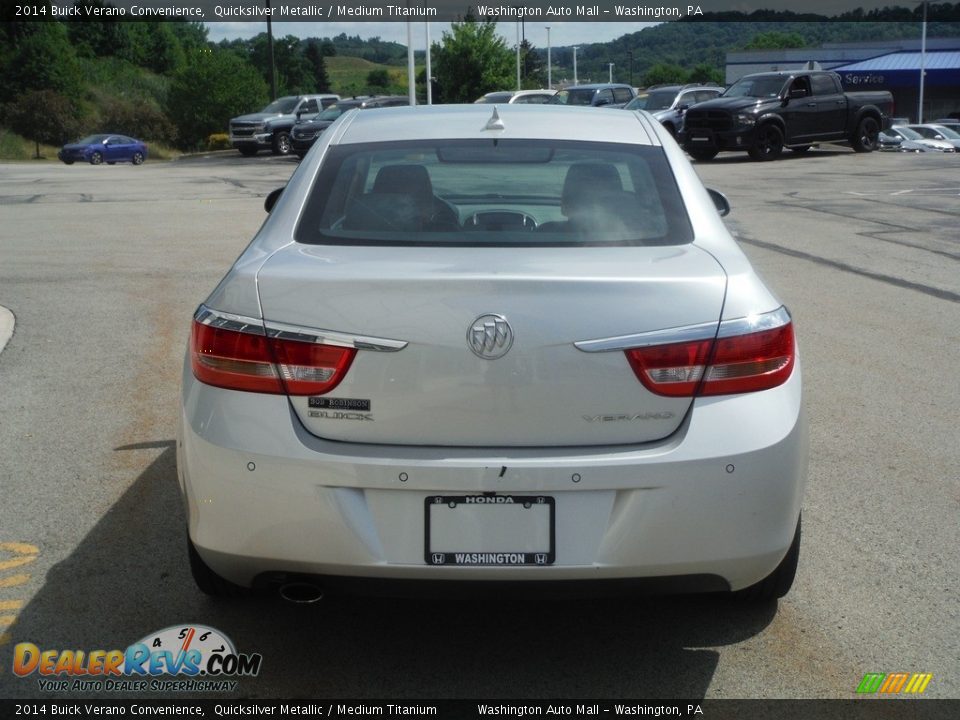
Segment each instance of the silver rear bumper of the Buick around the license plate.
M319 576L737 590L793 539L807 436L799 364L778 388L697 400L665 441L539 450L324 441L286 398L209 387L188 368L177 460L193 543L243 586ZM427 564L425 499L479 493L554 498L554 564Z

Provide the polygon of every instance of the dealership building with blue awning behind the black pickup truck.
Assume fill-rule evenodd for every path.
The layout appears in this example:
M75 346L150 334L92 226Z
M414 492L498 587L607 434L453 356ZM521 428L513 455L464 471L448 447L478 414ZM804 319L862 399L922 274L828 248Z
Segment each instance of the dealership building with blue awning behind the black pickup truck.
M960 38L827 43L819 48L727 53L726 81L754 72L816 68L840 75L846 90L889 90L895 115L917 120L924 70L923 119L960 113Z

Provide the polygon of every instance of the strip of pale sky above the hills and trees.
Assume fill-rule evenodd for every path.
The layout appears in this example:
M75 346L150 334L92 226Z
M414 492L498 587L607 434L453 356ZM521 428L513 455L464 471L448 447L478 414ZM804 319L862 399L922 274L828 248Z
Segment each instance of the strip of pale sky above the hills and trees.
M413 46L416 50L422 50L426 47L426 24L424 22L415 22L413 27ZM550 47L563 47L570 45L587 45L596 42L608 42L621 35L637 32L645 27L656 25L657 23L635 23L635 22L550 22L528 20L523 23L523 37L530 41L534 47L547 47L547 25L550 26ZM497 24L497 30L507 41L509 46L513 46L517 41L517 30L515 22L501 22ZM262 32L266 32L266 23L257 22L208 22L206 26L209 30L208 38L213 42L220 42L234 38L251 38ZM443 32L449 31L450 23L432 22L430 23L430 39L432 42L440 42ZM309 37L333 37L340 33L346 33L349 36L359 35L361 38L368 39L379 37L381 40L393 40L401 45L407 44L407 24L405 22L359 22L359 23L273 23L274 37L283 37L285 35L294 35L299 38Z

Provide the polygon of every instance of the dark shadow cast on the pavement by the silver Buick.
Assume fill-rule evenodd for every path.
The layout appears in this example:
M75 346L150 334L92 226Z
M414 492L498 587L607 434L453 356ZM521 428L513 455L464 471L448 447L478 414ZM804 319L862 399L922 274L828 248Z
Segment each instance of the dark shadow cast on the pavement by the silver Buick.
M708 596L213 600L190 577L173 441L116 451L149 448L162 450L19 613L0 653L3 697L51 695L36 673L9 672L16 643L124 650L164 628L202 624L238 652L260 653L261 671L231 693L169 697L701 698L714 648L756 635L776 614L776 604Z

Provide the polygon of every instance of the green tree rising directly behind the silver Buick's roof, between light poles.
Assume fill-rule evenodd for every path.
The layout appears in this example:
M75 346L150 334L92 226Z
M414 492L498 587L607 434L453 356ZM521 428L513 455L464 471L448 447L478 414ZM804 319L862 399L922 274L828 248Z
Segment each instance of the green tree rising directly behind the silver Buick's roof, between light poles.
M432 69L444 102L473 102L516 84L513 53L496 28L490 21L455 22L433 46Z

